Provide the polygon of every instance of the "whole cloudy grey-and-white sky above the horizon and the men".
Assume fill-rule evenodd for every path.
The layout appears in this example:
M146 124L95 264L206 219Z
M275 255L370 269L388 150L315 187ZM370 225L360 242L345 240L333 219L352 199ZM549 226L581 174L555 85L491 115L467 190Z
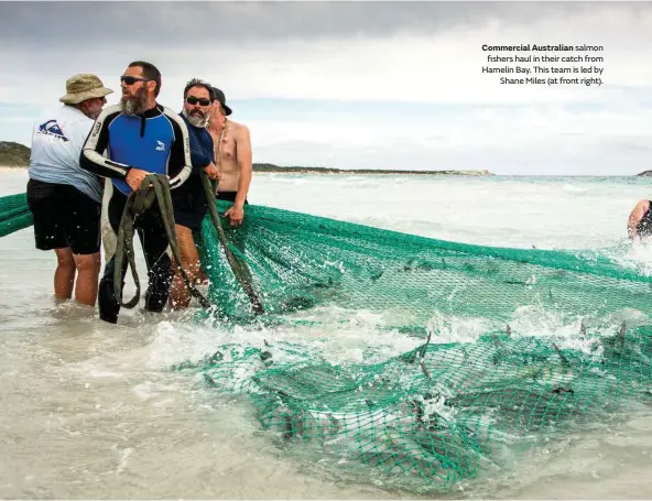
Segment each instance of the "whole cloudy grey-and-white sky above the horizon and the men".
M254 162L635 174L651 168L650 26L649 2L0 2L0 140L29 145L70 75L119 90L145 59L172 109L192 77L220 87ZM481 74L500 66L482 44L521 43L604 45L605 85Z

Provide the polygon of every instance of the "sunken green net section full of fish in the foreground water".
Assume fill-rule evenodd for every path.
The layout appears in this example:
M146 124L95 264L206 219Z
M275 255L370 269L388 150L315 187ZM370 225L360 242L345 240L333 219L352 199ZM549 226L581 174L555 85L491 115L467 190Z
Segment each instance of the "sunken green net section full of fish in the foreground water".
M446 492L513 466L555 435L650 402L650 334L586 334L584 350L491 334L345 366L307 352L303 361L276 361L287 347L272 342L216 353L204 375L247 395L281 447L350 473L369 468L387 482Z

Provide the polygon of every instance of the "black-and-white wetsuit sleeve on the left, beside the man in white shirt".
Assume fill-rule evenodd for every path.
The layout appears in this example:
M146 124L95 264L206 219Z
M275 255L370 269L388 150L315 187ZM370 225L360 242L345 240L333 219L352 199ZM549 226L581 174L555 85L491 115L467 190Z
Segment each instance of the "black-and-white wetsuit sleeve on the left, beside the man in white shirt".
M131 165L113 162L102 155L109 144L109 126L120 115L116 107L108 107L95 121L79 156L82 168L104 177L123 179Z

